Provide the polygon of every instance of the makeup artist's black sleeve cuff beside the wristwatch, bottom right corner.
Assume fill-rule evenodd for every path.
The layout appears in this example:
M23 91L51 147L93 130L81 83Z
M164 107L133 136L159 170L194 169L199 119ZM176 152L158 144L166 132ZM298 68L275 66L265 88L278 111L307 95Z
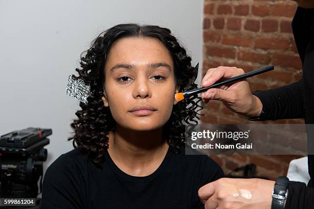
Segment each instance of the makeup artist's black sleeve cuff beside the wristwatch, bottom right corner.
M306 187L303 182L290 181L285 209L314 208L314 188Z

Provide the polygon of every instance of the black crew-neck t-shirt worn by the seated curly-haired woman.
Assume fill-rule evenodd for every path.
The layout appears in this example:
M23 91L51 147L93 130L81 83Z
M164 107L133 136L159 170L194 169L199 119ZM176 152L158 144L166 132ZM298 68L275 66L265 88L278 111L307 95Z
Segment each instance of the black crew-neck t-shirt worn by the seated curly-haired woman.
M135 177L121 171L108 152L101 170L73 149L47 169L41 208L204 208L199 188L223 171L207 155L187 154L196 152L188 145L180 154L168 149L156 171Z

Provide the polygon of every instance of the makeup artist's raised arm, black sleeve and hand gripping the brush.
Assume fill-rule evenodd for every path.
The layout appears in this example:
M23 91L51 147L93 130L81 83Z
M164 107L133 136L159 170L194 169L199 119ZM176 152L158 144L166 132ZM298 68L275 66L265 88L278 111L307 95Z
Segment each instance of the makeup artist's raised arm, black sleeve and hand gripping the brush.
M202 87L208 87L220 79L226 79L243 74L244 71L235 67L211 68L202 80ZM265 119L303 118L302 80L276 89L256 91L251 93L246 80L232 83L230 86L209 89L201 94L204 102L210 99L222 100L231 111L258 116L262 109Z

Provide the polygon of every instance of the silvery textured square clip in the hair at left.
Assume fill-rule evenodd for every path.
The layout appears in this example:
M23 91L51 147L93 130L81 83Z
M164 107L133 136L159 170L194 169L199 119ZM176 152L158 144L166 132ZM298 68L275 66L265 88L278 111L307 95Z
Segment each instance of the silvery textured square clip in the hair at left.
M78 101L87 103L89 96L90 86L83 79L76 78L74 75L69 75L67 83L67 95L71 96Z

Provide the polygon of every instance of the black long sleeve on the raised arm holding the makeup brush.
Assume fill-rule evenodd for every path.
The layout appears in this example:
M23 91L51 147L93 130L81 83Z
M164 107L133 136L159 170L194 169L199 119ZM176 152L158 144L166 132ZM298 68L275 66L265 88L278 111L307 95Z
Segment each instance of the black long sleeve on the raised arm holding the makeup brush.
M263 120L304 118L302 79L287 86L252 93L263 104Z

